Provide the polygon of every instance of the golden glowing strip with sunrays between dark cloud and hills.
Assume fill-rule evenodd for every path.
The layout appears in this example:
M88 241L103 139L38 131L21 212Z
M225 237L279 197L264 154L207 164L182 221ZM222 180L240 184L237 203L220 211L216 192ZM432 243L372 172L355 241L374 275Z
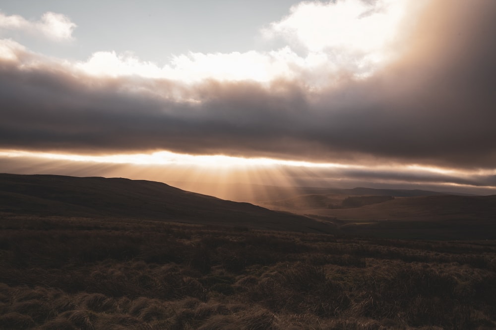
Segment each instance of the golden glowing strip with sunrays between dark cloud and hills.
M481 172L420 164L311 162L170 151L82 155L3 149L0 150L0 160L4 160L6 173L150 180L237 201L258 200L265 193L260 187L270 186L295 189L366 187L368 183L403 187L432 184L439 191L459 187L484 188L492 192L495 187L481 185L480 177L496 174L495 170ZM383 173L391 176L384 178ZM240 188L239 185L243 186Z

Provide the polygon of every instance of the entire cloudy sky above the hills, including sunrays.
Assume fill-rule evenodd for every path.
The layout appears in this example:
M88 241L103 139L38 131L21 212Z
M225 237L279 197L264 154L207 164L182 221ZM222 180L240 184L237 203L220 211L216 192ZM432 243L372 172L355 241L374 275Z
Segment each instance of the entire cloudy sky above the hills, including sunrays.
M0 172L496 194L494 17L490 0L0 1Z

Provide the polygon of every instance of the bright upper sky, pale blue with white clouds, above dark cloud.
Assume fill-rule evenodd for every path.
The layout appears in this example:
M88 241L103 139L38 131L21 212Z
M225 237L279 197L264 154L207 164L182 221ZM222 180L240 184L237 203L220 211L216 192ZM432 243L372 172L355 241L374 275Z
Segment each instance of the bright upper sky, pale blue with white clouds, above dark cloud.
M94 76L186 83L303 76L318 87L386 63L406 8L404 0L272 2L18 1L0 7L0 36Z

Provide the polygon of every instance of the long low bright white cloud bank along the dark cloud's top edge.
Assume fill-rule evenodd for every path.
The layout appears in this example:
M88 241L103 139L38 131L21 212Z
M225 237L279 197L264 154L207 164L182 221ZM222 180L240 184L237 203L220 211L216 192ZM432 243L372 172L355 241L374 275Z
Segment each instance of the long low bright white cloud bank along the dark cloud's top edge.
M195 53L173 56L169 64L159 67L153 62L141 61L132 53L116 54L114 51L93 53L76 67L92 75L142 76L166 78L191 83L205 79L254 80L266 82L274 77L291 77L289 63L301 65L304 59L288 47L261 53L257 51L232 53Z

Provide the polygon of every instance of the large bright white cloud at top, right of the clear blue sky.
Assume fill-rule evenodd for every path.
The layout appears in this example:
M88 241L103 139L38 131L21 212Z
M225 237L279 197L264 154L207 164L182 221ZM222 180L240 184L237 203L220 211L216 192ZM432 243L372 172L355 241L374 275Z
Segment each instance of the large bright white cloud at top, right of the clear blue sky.
M373 51L383 47L401 19L402 0L337 0L301 2L288 16L262 30L267 38L282 36L309 51L331 47Z

